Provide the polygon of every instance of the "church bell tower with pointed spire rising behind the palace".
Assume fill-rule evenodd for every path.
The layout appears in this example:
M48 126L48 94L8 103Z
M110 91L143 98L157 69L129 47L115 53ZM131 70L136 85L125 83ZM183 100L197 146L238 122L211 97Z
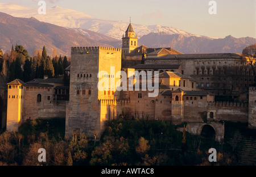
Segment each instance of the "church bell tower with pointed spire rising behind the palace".
M138 47L138 38L135 36L135 32L133 30L133 26L131 26L131 22L126 29L125 36L122 37L122 52L124 54L130 53L132 50Z

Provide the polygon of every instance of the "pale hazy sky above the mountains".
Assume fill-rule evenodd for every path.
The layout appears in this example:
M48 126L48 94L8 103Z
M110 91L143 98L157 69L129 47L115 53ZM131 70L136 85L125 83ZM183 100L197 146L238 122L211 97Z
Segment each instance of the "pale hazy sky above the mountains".
M209 14L210 0L45 0L47 7L60 6L95 18L135 24L160 24L197 35L256 38L256 0L216 0L217 14ZM0 0L38 7L39 0Z

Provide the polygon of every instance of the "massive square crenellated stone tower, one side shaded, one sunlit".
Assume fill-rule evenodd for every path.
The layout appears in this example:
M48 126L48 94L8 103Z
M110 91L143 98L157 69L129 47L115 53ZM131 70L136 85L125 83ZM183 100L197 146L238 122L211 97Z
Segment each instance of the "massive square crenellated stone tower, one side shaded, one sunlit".
M120 79L121 49L106 47L71 48L71 73L69 103L66 111L65 134L84 132L93 138L105 130L106 121L117 115L114 99L115 89L110 85ZM102 79L109 81L98 89ZM100 83L99 83L100 86Z

